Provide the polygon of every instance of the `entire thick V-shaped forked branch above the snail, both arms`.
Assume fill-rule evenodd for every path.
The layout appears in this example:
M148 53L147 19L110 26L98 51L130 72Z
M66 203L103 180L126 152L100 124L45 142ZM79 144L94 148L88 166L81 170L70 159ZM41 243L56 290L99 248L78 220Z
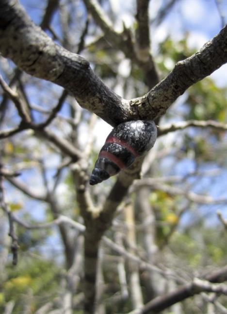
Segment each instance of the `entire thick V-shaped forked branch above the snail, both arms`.
M155 119L183 92L227 62L227 26L153 87L146 95L126 101L106 87L81 56L56 45L35 26L15 0L2 0L0 50L21 69L73 93L79 104L116 125Z

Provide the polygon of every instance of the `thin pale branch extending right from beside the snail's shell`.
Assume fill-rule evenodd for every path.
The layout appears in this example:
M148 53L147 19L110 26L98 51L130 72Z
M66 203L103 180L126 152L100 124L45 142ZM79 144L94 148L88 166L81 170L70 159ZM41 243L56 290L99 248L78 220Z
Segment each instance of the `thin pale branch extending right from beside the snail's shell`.
M160 125L158 128L158 136L165 135L169 132L174 132L177 130L183 130L187 127L211 127L218 131L227 131L227 124L222 122L216 122L212 120L199 121L199 120L188 120L182 122L169 123L165 125Z

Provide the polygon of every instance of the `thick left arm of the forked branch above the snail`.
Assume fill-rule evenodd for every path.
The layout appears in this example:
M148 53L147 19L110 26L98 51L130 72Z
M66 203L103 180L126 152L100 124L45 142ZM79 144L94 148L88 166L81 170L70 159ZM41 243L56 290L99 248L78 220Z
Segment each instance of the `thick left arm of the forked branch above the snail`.
M110 124L127 120L129 102L106 87L80 55L55 44L16 0L2 0L0 21L2 55L27 73L65 87L81 106Z

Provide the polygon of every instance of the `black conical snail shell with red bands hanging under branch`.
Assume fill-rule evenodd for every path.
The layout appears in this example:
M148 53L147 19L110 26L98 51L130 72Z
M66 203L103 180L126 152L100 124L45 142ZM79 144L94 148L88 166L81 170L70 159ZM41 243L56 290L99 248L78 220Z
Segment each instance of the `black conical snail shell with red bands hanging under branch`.
M137 157L150 150L157 138L154 121L128 121L118 124L102 146L90 177L90 185L100 183L128 168Z

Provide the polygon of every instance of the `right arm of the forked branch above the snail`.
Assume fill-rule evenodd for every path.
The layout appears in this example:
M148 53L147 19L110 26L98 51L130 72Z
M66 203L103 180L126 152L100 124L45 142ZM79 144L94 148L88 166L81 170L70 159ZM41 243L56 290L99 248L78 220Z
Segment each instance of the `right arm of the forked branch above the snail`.
M212 62L211 62L212 60ZM145 96L130 101L141 119L163 115L185 90L227 63L227 26L198 52L179 61Z

